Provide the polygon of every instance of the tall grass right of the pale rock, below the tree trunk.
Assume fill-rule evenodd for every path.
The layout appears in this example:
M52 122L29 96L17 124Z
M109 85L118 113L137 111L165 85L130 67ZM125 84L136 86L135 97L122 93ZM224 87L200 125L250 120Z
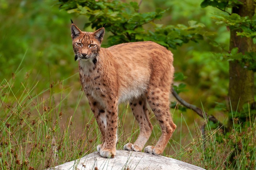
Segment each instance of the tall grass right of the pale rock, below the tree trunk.
M176 150L176 153L171 157L208 170L255 170L256 118L247 124L239 123L237 120L233 119L233 128L226 133L222 127L212 128L209 122L205 127L204 137L200 132L200 126L195 122L195 135L187 128L192 141L183 146L178 146L175 142L173 150Z

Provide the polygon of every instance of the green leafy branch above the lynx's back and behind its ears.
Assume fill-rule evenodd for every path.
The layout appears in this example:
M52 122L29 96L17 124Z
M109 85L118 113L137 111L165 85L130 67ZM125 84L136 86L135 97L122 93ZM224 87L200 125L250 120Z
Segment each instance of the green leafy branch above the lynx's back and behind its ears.
M203 39L200 29L204 24L190 21L188 26L163 26L154 21L163 17L166 10L156 8L155 12L140 13L140 6L136 2L123 3L114 1L83 0L62 1L59 0L60 8L69 13L86 15L89 22L84 27L105 29L112 33L108 37L108 46L124 42L154 41L167 48L176 49L183 43ZM150 26L145 24L150 23Z

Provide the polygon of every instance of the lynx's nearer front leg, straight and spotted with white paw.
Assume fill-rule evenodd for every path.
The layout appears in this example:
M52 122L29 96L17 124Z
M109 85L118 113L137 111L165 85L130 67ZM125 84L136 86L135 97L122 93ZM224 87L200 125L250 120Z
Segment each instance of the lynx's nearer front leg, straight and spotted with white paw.
M116 154L116 141L117 141L116 130L117 130L117 122L118 122L117 108L118 108L117 100L107 101L105 143L103 144L100 150L100 155L102 157L107 157L107 158L115 157L115 154Z

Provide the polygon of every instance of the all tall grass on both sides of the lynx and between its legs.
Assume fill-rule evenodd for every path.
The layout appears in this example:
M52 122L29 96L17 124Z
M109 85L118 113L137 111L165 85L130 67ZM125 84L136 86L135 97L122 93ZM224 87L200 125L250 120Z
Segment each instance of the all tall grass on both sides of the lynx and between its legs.
M16 77L21 77L20 74L16 71L13 78L4 79L0 84L1 169L46 169L96 151L101 134L88 101L78 90L79 85L69 86L70 79L78 81L78 75L61 82L50 81L42 90L42 82L26 76L17 87ZM188 120L189 110L186 115L177 109L171 112L177 130L164 156L209 170L255 169L255 119L250 119L245 128L234 122L233 129L226 135L220 128L212 129L207 124L206 137L202 139L202 120ZM154 145L161 135L153 113L150 119L154 128L146 145ZM118 132L118 150L138 136L138 125L128 104L119 106Z

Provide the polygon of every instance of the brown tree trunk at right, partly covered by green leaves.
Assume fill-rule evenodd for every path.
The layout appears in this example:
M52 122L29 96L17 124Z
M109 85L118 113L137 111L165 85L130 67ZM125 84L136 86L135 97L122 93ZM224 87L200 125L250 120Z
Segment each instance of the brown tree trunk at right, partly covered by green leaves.
M255 13L254 0L240 0L242 5L232 8L232 13L237 13L241 17L249 16L250 18ZM238 47L238 52L256 52L256 46L253 44L252 38L237 36L236 32L240 29L230 29L230 51L234 47ZM229 62L229 110L238 111L242 110L244 104L252 104L254 102L254 73L246 67L242 67L238 60ZM232 117L230 118L230 121Z

